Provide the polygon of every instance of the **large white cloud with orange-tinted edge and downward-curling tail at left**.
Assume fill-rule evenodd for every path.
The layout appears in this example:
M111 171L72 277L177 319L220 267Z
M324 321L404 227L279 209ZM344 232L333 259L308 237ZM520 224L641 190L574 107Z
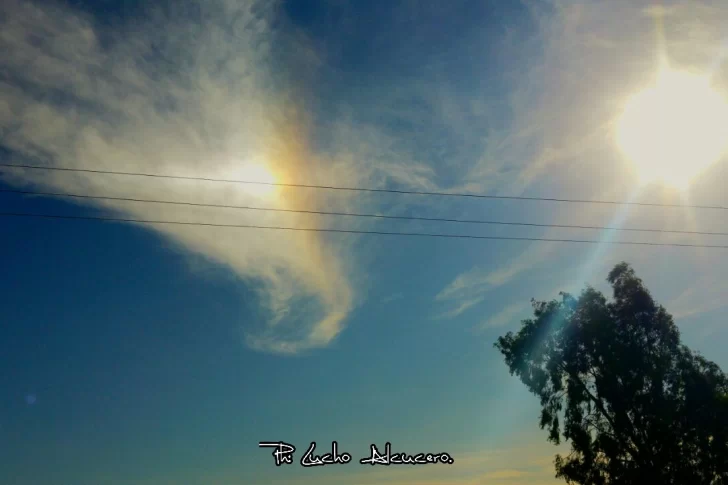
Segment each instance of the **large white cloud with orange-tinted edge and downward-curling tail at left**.
M0 135L14 161L192 177L245 179L265 166L279 181L377 186L427 185L429 172L387 150L374 129L333 123L340 135L311 148L300 73L319 60L305 39L276 25L267 1L213 0L154 7L146 19L101 28L82 11L11 0L0 19ZM282 47L283 46L283 47ZM290 47L292 54L286 57ZM280 51L280 52L279 52ZM295 79L296 82L292 82ZM374 159L376 163L362 164ZM16 186L141 199L316 209L334 197L251 187L98 174L3 170ZM351 202L336 195L338 207ZM103 201L125 217L223 224L316 227L318 219L274 213ZM145 226L149 227L149 226ZM185 252L245 279L262 317L246 342L277 353L324 347L356 305L353 240L281 233L155 225Z

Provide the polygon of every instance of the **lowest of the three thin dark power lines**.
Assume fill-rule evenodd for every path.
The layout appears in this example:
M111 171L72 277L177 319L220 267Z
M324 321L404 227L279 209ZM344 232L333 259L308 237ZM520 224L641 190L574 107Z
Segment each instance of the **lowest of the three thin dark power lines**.
M284 226L260 226L252 224L215 224L210 222L184 222L184 221L153 221L144 219L126 219L120 217L94 217L94 216L65 216L58 214L28 214L17 212L0 212L0 217L35 217L44 219L68 219L68 220L85 220L85 221L106 221L106 222L132 222L140 224L170 224L184 226L205 226L205 227L229 227L244 229L269 229L278 231L298 231L298 232L330 232L343 234L371 234L380 236L416 236L416 237L437 237L451 239L487 239L494 241L540 241L540 242L563 242L563 243L581 243L581 244L614 244L629 246L665 246L665 247L691 247L691 248L714 248L728 249L728 246L708 245L708 244L681 244L681 243L657 243L657 242L637 242L637 241L595 241L588 239L549 239L540 237L508 237L508 236L474 236L468 234L441 234L441 233L423 233L423 232L388 232L388 231L360 231L354 229L322 229L308 227L284 227Z

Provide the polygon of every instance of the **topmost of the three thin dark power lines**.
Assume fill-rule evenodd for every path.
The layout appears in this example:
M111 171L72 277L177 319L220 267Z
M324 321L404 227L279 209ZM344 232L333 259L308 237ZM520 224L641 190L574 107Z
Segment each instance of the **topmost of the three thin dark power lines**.
M111 170L92 170L84 168L69 168L69 167L43 167L37 165L18 165L0 163L0 167L7 168L25 168L32 170L53 170L62 172L80 172L80 173L96 173L96 174L107 174L107 175L124 175L134 177L150 177L150 178L162 178L162 179L177 179L177 180L196 180L201 182L222 182L222 183L234 183L234 184L250 184L250 185L267 185L276 187L296 187L296 188L307 188L307 189L321 189L321 190L340 190L340 191L351 191L351 192L373 192L373 193L387 193L387 194L407 194L407 195L427 195L427 196L441 196L441 197L468 197L477 199L501 199L501 200L529 200L529 201L540 201L540 202L565 202L572 204L602 204L602 205L628 205L628 206L644 206L644 207L682 207L688 209L713 209L713 210L728 210L726 206L719 205L687 205L687 204L662 204L657 202L620 202L620 201L609 201L609 200L586 200L586 199L559 199L553 197L526 197L516 195L488 195L488 194L468 194L458 192L427 192L418 190L395 190L395 189L374 189L364 187L343 187L335 185L312 185L312 184L294 184L294 183L280 183L280 182L259 182L253 180L236 180L236 179L217 179L207 177L191 177L183 175L163 175L153 173L141 173L141 172L117 172Z

